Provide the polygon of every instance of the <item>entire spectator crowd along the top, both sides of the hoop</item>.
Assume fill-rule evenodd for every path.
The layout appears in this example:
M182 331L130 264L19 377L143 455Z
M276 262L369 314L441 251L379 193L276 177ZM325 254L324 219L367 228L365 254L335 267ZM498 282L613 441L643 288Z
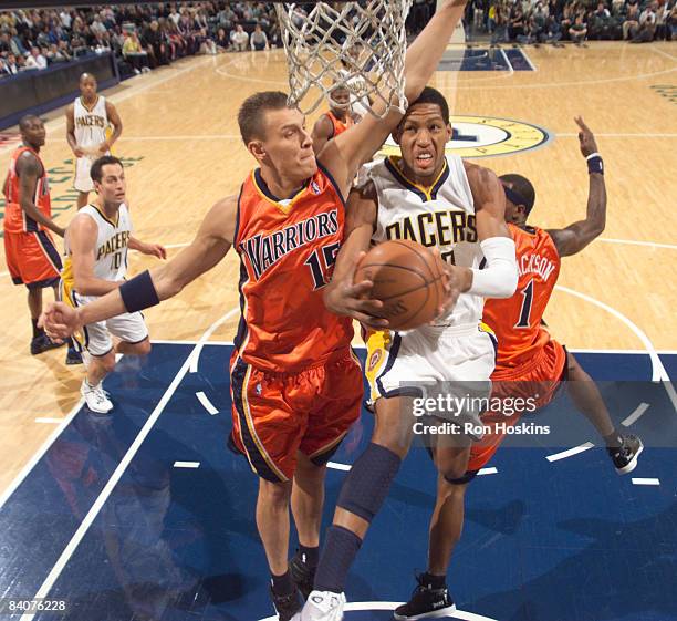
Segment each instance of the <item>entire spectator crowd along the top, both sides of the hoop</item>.
M677 0L471 0L466 28L492 44L677 40ZM413 0L409 34L435 12ZM299 9L302 10L302 9ZM0 76L111 51L123 76L191 54L280 46L270 2L187 2L0 12Z

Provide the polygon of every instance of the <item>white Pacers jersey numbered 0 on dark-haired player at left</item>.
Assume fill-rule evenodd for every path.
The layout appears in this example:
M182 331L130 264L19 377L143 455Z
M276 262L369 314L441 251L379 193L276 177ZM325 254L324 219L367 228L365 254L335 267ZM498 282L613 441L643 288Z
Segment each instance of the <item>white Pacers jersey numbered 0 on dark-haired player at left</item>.
M102 280L122 280L127 273L127 246L132 235L132 219L129 210L123 203L117 211L117 221L106 218L94 205L86 205L79 213L86 214L98 229L96 247L94 248L94 276ZM63 268L62 280L66 288L73 286L69 236L65 237L66 260Z

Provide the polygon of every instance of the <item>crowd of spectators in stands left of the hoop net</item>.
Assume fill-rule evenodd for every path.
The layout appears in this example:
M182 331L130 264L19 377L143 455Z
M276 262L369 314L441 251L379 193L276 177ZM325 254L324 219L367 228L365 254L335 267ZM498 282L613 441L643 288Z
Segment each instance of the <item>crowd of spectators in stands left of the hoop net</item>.
M192 54L268 50L280 31L270 2L187 2L0 12L0 76L112 52L125 74Z

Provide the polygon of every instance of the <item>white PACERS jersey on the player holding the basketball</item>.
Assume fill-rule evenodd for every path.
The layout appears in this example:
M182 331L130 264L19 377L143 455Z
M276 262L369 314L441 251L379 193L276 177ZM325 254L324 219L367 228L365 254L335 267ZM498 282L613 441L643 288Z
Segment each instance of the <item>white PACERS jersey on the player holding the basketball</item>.
M475 203L462 159L447 155L445 167L429 188L407 179L399 157L369 166L368 178L378 194L378 222L373 240L410 239L437 246L442 259L456 266L479 268L483 259L477 237ZM461 293L454 309L436 325L478 325L483 298Z

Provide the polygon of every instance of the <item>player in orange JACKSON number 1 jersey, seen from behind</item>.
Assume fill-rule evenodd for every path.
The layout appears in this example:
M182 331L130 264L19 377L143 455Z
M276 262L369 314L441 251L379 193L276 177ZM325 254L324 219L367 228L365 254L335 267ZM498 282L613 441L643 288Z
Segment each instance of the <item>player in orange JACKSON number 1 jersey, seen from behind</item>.
M581 153L587 159L590 190L587 214L563 229L543 230L527 224L535 193L521 175L500 177L506 188L506 220L517 247L519 269L518 290L512 298L489 299L485 303L485 321L496 332L499 342L496 370L491 375L497 397L537 399L539 407L550 403L560 386L565 386L573 403L604 438L608 456L619 475L632 472L643 449L634 435L621 435L611 422L608 411L597 386L563 345L550 337L542 322L543 312L560 273L561 257L576 255L604 230L606 220L606 189L604 167L592 132L582 118ZM497 424L517 424L520 415L506 416L501 412L487 413L482 424L493 428L472 445L468 472L456 485L446 489L449 519L441 528L430 531L428 570L418 576L419 586L412 600L395 611L395 619L413 620L435 617L423 611L446 592L445 577L454 547L460 539L464 525L466 488L483 468L504 437ZM439 500L438 500L439 501ZM437 590L430 583L438 580ZM416 612L419 612L417 615Z

